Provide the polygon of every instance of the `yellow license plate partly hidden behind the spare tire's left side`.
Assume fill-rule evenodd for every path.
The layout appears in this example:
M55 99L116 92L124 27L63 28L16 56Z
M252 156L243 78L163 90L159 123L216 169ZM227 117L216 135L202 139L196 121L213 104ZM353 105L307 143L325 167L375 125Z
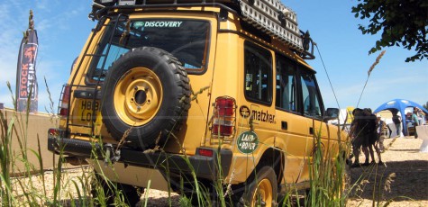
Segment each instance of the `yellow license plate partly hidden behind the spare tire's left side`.
M99 101L92 99L80 99L78 100L78 120L79 121L95 121L96 123L101 123L101 109ZM95 109L95 115L94 113Z

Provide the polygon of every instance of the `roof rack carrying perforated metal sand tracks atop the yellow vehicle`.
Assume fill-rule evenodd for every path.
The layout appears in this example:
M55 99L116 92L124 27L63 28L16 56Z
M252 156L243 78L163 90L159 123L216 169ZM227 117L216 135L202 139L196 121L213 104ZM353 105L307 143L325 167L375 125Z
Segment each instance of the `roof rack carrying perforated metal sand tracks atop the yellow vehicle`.
M89 17L98 19L111 8L220 6L241 14L246 23L286 43L302 58L314 58L314 41L309 32L298 29L296 13L280 0L93 0ZM233 8L233 9L232 9ZM235 11L238 10L238 11ZM309 51L311 49L311 51Z

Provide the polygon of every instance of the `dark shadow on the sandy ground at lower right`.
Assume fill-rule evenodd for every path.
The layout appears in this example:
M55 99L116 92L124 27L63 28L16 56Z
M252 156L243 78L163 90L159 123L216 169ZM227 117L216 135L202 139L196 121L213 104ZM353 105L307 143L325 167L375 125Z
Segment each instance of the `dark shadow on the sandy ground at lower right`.
M387 184L387 177L393 174L395 177ZM428 160L391 161L386 165L351 168L351 184L356 184L351 198L427 201Z

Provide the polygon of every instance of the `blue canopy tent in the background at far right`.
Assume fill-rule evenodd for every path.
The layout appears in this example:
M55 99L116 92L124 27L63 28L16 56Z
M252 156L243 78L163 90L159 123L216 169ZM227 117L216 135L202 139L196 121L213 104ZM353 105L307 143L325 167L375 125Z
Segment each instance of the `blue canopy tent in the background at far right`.
M408 108L408 107L417 107L419 109L422 109L423 112L425 112L426 114L428 114L428 111L425 108L423 108L422 105L418 103L414 103L412 101L405 100L405 99L394 99L387 103L383 103L374 112L376 113L376 112L381 112L385 110L389 110L393 114L396 114L396 112L400 112L402 116L402 120L405 123L405 108ZM407 127L405 124L403 124L403 133L407 134Z

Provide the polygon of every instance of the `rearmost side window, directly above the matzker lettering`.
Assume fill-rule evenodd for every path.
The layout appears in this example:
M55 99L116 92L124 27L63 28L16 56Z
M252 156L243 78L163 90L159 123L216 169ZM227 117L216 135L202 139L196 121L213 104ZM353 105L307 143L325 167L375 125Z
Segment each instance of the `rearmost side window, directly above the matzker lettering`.
M253 102L270 104L272 101L272 56L249 41L244 44L245 97Z

